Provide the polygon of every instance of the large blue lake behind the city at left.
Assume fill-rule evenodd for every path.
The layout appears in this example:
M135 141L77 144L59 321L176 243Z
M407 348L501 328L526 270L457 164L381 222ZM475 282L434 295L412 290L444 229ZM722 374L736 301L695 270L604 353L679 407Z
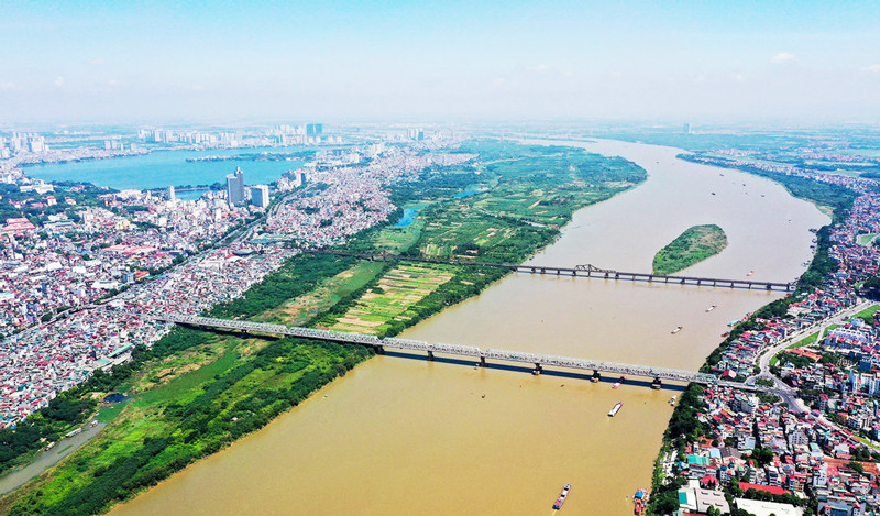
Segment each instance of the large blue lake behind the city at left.
M222 161L187 162L188 157L235 156L261 152L296 152L305 147L212 149L208 151L156 151L150 154L74 163L54 163L23 168L31 177L53 180L81 180L117 189L163 188L169 185L226 184L227 174L240 166L246 185L267 184L286 171L302 166L302 161ZM183 193L182 193L183 194ZM196 195L193 193L191 195ZM198 193L196 198L200 196ZM191 198L190 196L180 198Z

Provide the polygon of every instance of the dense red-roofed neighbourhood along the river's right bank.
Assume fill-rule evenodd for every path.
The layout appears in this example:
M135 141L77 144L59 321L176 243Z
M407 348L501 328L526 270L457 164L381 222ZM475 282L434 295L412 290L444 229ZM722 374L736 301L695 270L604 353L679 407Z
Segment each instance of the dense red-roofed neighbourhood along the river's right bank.
M659 459L664 474L656 482L653 509L678 515L877 514L880 307L858 296L859 286L877 275L880 259L872 245L880 232L876 183L791 166L736 165L845 186L858 197L846 218L831 227L826 249L818 250L836 263L820 288L779 305L782 314L762 309L732 321L730 336L707 366L722 378L744 382L745 388L710 386L683 396L688 408L676 409L673 424L693 409L694 431L669 436L678 438L678 448ZM761 371L761 359L769 371ZM782 399L749 391L780 381L785 385L779 393L796 389L796 395Z

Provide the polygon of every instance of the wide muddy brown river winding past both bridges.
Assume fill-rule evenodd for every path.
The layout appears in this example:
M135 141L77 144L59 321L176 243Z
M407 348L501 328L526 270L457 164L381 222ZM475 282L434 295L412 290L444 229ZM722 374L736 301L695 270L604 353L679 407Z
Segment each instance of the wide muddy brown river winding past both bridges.
M580 210L534 263L647 272L688 227L717 223L729 245L688 273L791 281L811 257L809 229L828 222L778 184L673 149L571 144L631 160L649 178ZM695 370L727 321L779 296L516 274L404 337ZM376 356L113 515L550 514L565 483L563 512L632 514L678 388Z

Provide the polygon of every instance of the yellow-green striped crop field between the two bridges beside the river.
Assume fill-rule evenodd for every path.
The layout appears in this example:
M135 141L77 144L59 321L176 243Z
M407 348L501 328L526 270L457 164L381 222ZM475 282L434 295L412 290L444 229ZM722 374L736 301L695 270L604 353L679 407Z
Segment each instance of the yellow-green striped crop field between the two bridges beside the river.
M330 329L382 334L391 321L406 321L407 310L452 279L453 273L437 266L398 265L369 288Z

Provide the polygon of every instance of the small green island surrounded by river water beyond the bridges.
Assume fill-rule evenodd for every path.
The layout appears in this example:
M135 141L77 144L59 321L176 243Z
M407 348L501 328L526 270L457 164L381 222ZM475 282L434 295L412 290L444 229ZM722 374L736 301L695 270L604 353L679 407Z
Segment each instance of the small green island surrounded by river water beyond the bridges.
M724 251L727 235L716 224L692 226L653 257L653 273L674 274Z

